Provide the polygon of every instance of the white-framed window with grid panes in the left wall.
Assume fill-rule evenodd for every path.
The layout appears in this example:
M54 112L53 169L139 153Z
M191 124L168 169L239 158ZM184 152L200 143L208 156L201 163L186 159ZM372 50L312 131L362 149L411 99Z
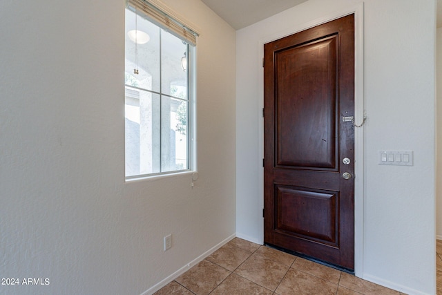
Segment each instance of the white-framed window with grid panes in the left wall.
M160 12L147 2L132 2L135 6L129 1L126 8L126 179L189 171L194 168L192 39L148 15Z

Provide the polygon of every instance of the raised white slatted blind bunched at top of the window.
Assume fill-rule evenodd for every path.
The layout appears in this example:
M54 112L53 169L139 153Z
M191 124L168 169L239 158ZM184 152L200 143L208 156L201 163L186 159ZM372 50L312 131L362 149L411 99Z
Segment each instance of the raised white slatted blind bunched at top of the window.
M184 21L178 20L167 12L157 8L151 1L127 0L127 7L138 15L148 17L150 21L164 28L164 30L168 30L176 37L183 39L193 46L196 45L196 37L199 35L196 30L184 23ZM140 14L140 12L142 13Z

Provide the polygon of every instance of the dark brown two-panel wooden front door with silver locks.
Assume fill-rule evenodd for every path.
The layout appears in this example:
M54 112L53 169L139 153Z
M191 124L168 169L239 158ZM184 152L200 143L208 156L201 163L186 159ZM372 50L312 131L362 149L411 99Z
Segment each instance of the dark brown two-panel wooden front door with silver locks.
M264 56L264 242L352 270L354 15Z

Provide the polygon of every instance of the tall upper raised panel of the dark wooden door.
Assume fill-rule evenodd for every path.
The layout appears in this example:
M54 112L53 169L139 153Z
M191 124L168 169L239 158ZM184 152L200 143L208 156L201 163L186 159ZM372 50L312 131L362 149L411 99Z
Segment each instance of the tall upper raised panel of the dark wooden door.
M275 54L278 166L336 168L336 39Z

